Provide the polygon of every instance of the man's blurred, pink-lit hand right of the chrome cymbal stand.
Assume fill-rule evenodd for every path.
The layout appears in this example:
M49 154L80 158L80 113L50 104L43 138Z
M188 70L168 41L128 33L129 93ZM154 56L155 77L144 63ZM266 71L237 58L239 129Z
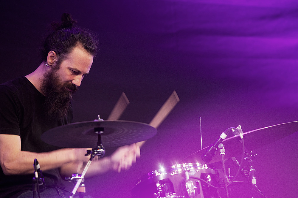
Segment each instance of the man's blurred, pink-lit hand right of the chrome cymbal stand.
M121 172L128 170L136 158L141 156L140 147L136 144L126 145L117 148L111 155L111 170Z

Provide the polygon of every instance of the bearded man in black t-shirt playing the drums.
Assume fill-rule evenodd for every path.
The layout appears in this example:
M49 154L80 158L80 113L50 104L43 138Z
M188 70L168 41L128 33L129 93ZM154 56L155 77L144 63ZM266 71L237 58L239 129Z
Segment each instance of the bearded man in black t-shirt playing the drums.
M0 85L0 197L32 197L34 159L45 178L41 195L68 197L61 177L80 174L90 158L85 156L87 148L59 148L40 139L47 130L72 123L72 94L89 74L98 48L96 36L77 27L69 14L52 28L38 68ZM86 176L127 170L139 156L135 144L120 147L94 160Z

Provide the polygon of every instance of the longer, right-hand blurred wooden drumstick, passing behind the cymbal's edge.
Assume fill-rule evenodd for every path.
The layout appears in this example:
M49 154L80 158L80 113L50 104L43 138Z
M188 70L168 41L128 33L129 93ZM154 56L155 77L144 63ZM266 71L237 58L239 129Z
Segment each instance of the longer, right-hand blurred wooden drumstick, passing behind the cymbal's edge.
M167 101L162 105L162 107L159 109L159 111L156 113L154 118L151 120L149 125L153 126L157 129L159 125L164 121L164 119L169 115L169 113L173 110L173 108L176 106L176 104L180 101L176 91L173 91L173 93L170 95L170 97L167 99ZM141 147L145 141L137 142L136 145Z

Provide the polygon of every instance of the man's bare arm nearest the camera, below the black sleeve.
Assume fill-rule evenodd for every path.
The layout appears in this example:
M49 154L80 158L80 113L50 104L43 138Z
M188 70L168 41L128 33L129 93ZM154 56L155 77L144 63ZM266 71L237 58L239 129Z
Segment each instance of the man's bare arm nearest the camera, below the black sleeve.
M86 149L63 148L45 153L21 151L21 138L18 135L0 134L0 165L5 175L31 174L34 159L42 170L61 167L73 161L86 161Z

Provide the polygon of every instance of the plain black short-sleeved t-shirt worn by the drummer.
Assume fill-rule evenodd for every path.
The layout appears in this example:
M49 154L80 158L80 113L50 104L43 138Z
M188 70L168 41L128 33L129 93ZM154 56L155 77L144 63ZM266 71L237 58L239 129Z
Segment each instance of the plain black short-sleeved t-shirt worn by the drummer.
M20 136L21 151L41 153L59 149L44 143L41 134L72 122L72 109L65 118L47 116L44 100L45 96L24 76L0 85L0 133ZM0 167L0 197L15 197L32 190L33 163L30 175L4 175ZM43 175L46 186L64 186L58 169L43 171Z

